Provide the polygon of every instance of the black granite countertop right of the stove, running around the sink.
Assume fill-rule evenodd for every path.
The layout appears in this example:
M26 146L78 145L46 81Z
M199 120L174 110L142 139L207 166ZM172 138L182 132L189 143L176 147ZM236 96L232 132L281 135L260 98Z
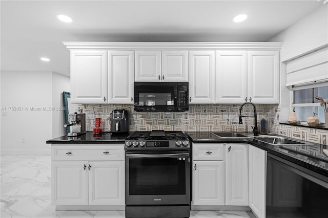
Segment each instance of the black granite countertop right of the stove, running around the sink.
M309 143L309 145L271 145L254 139L251 134L245 134L248 138L220 138L211 132L186 132L194 143L248 143L268 151L270 154L313 170L328 177L328 156L323 149L327 145ZM284 137L288 138L288 137Z

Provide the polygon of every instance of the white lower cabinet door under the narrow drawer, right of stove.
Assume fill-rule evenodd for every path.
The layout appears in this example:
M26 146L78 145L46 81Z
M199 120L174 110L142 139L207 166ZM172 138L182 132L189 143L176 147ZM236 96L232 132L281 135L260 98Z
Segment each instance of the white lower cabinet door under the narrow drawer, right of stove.
M223 161L193 161L193 205L224 205Z

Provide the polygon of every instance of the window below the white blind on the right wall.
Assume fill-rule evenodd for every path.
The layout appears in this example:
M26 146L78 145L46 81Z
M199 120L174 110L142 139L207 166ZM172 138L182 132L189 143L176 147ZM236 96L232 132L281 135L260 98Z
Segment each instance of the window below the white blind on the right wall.
M292 91L292 107L301 124L306 124L306 118L313 116L313 113L319 117L321 123L325 122L324 109L315 97L320 96L324 100L328 99L328 82L293 86Z

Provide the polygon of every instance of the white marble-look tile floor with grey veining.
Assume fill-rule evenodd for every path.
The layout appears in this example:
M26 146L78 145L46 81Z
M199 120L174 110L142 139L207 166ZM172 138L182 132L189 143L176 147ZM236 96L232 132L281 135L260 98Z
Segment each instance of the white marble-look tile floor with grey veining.
M1 157L1 216L123 218L124 211L55 211L50 203L50 156ZM191 211L192 218L250 218L244 211Z

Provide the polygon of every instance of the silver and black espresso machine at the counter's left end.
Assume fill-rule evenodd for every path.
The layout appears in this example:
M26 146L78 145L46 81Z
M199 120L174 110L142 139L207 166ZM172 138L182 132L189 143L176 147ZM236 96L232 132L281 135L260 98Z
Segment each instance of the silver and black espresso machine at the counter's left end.
M86 133L86 114L68 114L69 124L64 127L70 127L69 137L79 136Z

